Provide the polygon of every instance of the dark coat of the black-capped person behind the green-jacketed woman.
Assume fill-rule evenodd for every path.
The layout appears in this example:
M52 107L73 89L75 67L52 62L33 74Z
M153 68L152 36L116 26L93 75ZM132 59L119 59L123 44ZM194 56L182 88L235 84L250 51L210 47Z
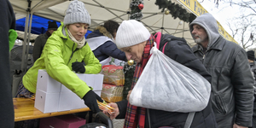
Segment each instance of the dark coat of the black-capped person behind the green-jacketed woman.
M46 44L47 39L49 38L48 34L45 32L44 34L40 34L36 40L33 47L33 61L37 61L40 58L42 51L44 49L44 45Z

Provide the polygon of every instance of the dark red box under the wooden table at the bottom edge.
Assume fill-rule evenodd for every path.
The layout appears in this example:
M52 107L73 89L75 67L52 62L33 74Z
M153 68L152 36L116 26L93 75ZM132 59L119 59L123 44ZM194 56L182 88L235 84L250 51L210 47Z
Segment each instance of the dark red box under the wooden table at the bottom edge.
M79 126L85 125L85 123L85 119L81 119L73 114L66 114L40 119L39 128L79 128Z

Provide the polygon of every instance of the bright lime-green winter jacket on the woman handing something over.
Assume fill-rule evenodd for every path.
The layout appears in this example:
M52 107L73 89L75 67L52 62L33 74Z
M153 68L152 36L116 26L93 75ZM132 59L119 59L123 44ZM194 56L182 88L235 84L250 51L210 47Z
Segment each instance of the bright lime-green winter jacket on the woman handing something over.
M78 44L74 43L68 36L64 36L62 28L63 23L48 38L41 57L27 71L22 82L27 90L36 93L38 69L46 69L51 78L61 82L69 90L83 98L91 89L73 73L72 63L74 61L84 61L85 73L100 73L102 65L87 43L81 49L77 49ZM65 32L67 33L67 28L65 28Z

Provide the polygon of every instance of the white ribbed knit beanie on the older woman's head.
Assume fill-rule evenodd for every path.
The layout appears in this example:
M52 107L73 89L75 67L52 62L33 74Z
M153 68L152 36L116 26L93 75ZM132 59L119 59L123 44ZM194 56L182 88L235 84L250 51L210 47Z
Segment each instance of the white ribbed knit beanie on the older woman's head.
M137 20L124 20L116 32L116 45L119 49L143 43L150 38L150 32Z

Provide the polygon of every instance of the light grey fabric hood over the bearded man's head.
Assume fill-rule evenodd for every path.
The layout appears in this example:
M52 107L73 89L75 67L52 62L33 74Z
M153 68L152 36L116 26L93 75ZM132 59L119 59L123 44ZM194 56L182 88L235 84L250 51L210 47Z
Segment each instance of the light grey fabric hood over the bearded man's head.
M208 14L208 13L198 16L195 20L193 20L189 24L189 30L190 30L191 35L192 35L192 31L193 31L193 25L195 25L195 24L202 26L206 30L208 38L209 38L209 44L208 44L207 49L211 48L212 44L214 44L220 36L218 33L217 21L211 14ZM192 37L193 37L193 35L192 35Z

